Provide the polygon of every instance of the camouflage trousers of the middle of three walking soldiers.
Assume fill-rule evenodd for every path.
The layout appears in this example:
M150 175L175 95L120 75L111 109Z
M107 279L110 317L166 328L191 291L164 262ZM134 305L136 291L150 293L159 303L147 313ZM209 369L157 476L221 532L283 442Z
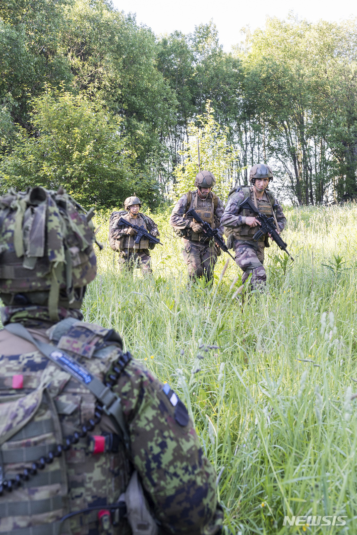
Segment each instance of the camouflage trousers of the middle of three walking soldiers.
M188 268L188 281L204 277L208 282L212 282L217 262L215 244L184 240L184 247L182 254Z

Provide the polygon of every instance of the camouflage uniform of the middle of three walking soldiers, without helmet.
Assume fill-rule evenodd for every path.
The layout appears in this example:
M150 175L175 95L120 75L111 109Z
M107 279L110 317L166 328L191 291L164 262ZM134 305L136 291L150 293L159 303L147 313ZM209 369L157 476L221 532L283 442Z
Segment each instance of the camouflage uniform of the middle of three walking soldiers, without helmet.
M217 208L214 210L214 194L211 192L206 199L201 199L198 189L191 194L191 202L187 201L187 194L183 195L172 210L170 225L175 232L183 236L184 262L188 268L188 279L194 280L196 277L205 277L207 281L212 281L217 254L220 251L214 243L206 238L205 234L192 232L189 224L192 218L186 218L185 213L194 208L204 221L208 221L212 228L218 228L223 233L221 217L224 212L223 202L217 198ZM186 234L186 236L185 236Z

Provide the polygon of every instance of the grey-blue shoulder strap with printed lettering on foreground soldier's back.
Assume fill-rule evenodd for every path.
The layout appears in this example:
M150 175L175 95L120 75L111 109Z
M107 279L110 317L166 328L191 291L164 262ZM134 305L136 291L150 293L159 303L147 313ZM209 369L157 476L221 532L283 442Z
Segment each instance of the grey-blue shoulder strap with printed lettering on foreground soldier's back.
M50 361L54 362L62 368L62 370L70 373L74 379L77 379L82 385L84 385L93 395L103 404L103 410L108 416L112 416L115 419L115 422L119 426L119 430L123 434L125 445L129 447L129 435L126 430L126 425L123 417L123 409L121 408L120 398L111 391L108 386L103 385L103 383L93 376L89 371L77 362L73 357L52 346L49 343L41 342L35 340L32 334L21 325L20 323L10 323L4 327L6 331L9 331L12 334L20 338L24 338L33 345L44 355L49 358ZM123 364L127 364L131 360L130 353L125 353L121 356ZM123 366L124 367L124 366Z

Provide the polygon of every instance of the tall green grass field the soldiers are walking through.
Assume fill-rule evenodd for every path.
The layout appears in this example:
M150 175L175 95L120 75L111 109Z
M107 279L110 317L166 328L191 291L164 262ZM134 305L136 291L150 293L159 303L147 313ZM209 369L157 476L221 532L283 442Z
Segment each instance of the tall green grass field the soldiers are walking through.
M232 260L219 280L225 254L212 290L188 292L168 213L155 216L164 247L153 251L153 279L121 274L107 243L109 213L99 213L107 244L84 313L122 333L186 403L216 467L226 533L354 534L357 205L286 215L295 262L266 249L269 292L242 307L232 299L240 285L231 288ZM285 515L345 516L346 524L283 526Z

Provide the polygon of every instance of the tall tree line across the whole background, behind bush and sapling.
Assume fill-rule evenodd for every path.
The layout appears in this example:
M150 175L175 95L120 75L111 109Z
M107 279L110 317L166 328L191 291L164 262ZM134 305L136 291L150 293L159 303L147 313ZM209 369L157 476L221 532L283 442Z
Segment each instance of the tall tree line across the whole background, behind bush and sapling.
M245 42L227 53L212 20L157 38L110 0L4 0L0 158L18 150L18 125L37 135L36 98L63 87L120 118L138 179L155 181L167 198L191 143L189 125L199 126L209 100L237 155L227 175L233 186L247 184L249 166L265 162L277 195L293 204L351 200L356 21L268 18L253 35L246 28Z

